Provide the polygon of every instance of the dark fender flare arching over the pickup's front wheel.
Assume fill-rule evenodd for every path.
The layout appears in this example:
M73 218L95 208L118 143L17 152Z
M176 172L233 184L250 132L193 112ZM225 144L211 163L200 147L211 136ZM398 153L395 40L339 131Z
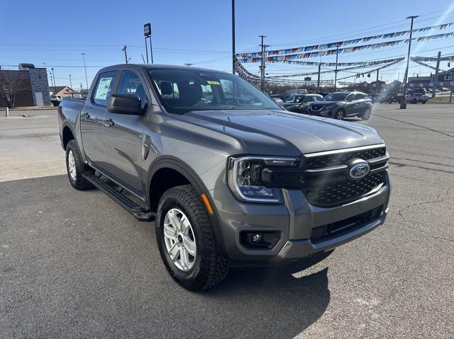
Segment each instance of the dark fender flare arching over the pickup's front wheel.
M211 208L214 210L214 214L208 214L208 217L211 221L211 225L213 225L213 231L214 231L214 237L216 239L216 242L218 243L218 247L221 249L222 253L226 255L226 248L223 242L223 235L221 231L221 224L218 220L218 212L216 210L216 205L214 205L213 199L211 198L211 195L209 194L205 184L203 181L199 178L199 176L196 174L196 172L187 164L184 163L184 161L181 161L180 159L176 158L175 156L161 156L153 163L151 163L150 168L148 169L148 177L146 180L147 184L147 189L146 189L146 199L148 202L150 202L150 197L151 197L151 181L153 180L153 176L157 171L159 171L162 168L171 168L172 170L175 170L179 173L182 174L189 183L191 183L192 187L194 190L196 190L196 193L198 195L201 195L202 193L205 193L206 197L209 200L209 203L211 205Z

